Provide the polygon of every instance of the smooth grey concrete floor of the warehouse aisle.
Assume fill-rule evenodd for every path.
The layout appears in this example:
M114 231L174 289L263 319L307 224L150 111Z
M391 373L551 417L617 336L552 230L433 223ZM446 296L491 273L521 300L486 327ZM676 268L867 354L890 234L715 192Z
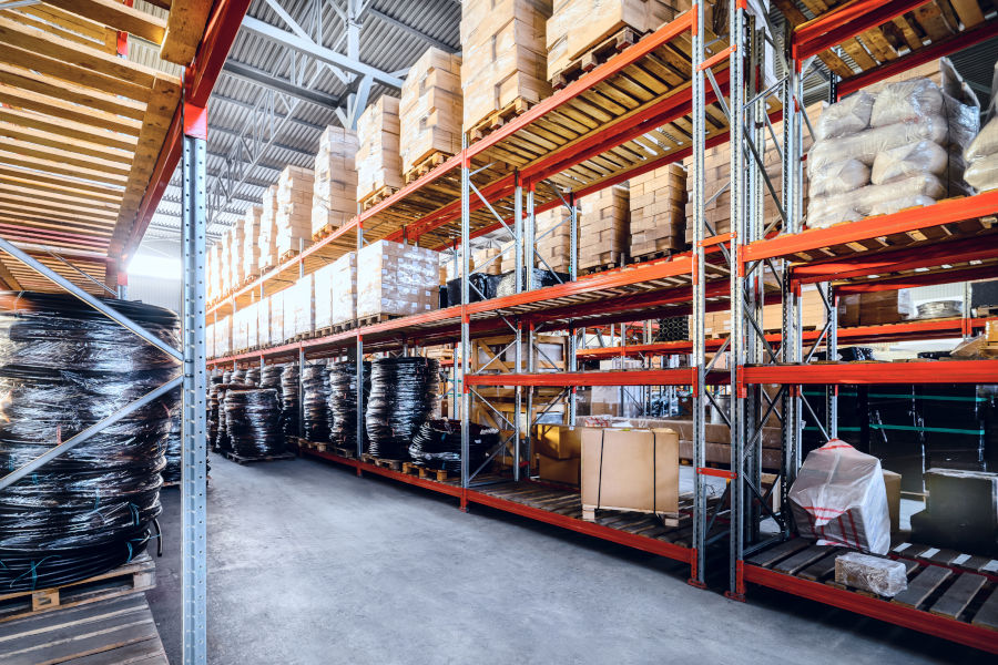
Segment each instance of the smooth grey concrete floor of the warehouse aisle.
M212 665L985 663L984 655L685 565L313 460L213 457ZM180 501L147 592L181 663Z

